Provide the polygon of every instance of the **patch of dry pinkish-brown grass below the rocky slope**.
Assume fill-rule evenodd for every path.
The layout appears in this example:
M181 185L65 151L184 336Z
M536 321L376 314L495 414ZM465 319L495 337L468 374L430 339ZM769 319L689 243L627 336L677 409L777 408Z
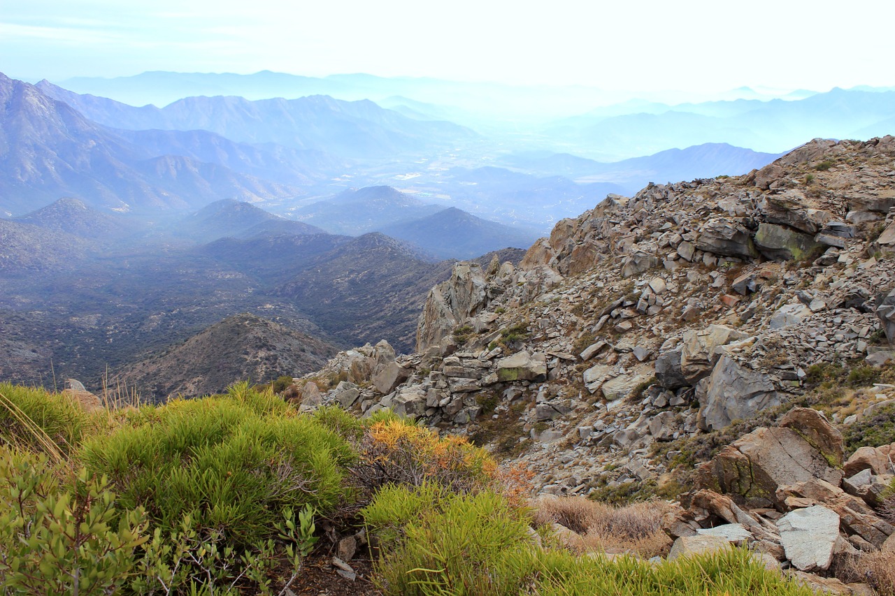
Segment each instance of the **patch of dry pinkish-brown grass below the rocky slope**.
M541 498L534 518L538 524L560 524L579 534L568 544L572 549L650 558L666 554L671 547L661 528L668 507L658 500L615 507L584 497Z

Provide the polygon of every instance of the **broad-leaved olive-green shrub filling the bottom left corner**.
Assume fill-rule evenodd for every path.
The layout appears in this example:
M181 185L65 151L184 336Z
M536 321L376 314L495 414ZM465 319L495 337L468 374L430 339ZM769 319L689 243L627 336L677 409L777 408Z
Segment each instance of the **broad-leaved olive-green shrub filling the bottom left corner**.
M105 478L60 486L47 457L0 447L0 578L4 594L118 592L149 541L141 509L120 512Z

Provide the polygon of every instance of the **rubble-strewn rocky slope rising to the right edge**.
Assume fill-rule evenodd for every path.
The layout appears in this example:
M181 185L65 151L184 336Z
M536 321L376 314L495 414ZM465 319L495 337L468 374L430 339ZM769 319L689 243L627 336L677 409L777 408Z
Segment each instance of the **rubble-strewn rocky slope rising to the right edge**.
M892 137L814 140L748 175L609 196L558 222L517 268L458 263L430 291L416 353L394 357L383 343L339 353L293 395L365 414L391 407L467 434L527 468L541 493L711 488L749 512L740 524L773 525L753 536L776 545L771 556L823 570L829 560L803 565L790 553L783 515L826 502L853 549L862 541L879 549L892 533L874 521L881 518L872 498L848 501L848 511L868 516L876 533L849 525L846 506L830 505L851 490L843 478L862 470L841 470L850 454L836 438L840 429L895 397L895 386L873 383L892 379L887 362L895 356L892 208ZM818 386L819 378L829 383ZM833 395L847 380L861 388ZM815 409L791 410L800 404ZM788 444L783 431L754 430L788 411L780 421L796 429ZM693 473L749 430L759 434L734 443L738 456ZM768 447L769 437L780 440ZM818 464L795 476L767 473L773 480L757 490L761 479L750 474L759 474L760 449L748 445L788 453L802 467ZM895 472L878 467L861 486L882 486ZM792 488L805 481L832 488L823 498ZM750 482L751 496L742 490ZM712 495L703 498L717 501ZM717 525L720 510L738 515L693 507L689 532L673 535Z

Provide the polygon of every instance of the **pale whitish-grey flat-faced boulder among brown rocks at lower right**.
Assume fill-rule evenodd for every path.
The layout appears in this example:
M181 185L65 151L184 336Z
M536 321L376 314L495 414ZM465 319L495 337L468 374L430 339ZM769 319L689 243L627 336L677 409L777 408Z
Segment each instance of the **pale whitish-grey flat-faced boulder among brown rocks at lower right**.
M777 521L786 557L801 571L830 566L839 526L840 516L820 505L797 509Z

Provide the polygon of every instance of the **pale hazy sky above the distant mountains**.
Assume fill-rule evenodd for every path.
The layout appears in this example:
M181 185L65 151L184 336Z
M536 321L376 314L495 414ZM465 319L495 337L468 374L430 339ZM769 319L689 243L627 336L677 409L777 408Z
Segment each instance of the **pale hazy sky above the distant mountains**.
M603 89L895 85L892 0L0 0L0 71L370 72Z

